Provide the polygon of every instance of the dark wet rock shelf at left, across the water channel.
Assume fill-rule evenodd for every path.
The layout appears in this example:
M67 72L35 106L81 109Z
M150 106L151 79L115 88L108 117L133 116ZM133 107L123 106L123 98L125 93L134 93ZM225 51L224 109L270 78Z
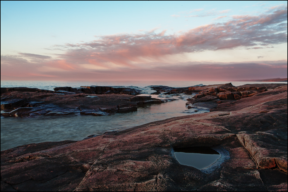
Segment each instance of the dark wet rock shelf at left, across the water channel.
M62 91L62 92L61 92ZM63 92L64 91L64 92ZM127 94L76 94L66 90L1 88L1 115L38 117L42 115L109 115L137 111L137 104L162 103L149 96ZM142 102L140 102L142 101Z

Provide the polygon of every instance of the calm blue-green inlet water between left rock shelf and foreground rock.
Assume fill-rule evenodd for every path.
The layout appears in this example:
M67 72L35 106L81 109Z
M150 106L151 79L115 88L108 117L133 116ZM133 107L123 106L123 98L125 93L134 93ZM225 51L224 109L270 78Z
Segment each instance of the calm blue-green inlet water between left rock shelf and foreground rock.
M185 103L186 100L170 101L140 107L136 112L106 116L1 118L1 151L28 143L82 140L88 135L103 134L119 127L133 127L171 117L191 115L192 113L187 112L192 110L187 110Z

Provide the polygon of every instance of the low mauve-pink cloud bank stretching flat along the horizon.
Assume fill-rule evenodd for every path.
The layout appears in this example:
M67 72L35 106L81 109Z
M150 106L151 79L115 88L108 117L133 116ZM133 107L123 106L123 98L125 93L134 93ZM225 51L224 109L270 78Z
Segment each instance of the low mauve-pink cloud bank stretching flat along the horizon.
M13 59L11 57L11 59ZM1 58L2 60L2 58ZM15 60L13 60L15 61ZM149 68L97 68L95 65L78 65L71 68L66 60L42 63L39 70L26 63L1 65L1 79L14 80L182 80L182 81L232 81L237 79L286 78L287 60L218 63L179 62L179 63L139 63ZM34 64L29 64L35 66ZM95 67L93 67L95 66ZM54 67L54 68L53 68ZM47 70L49 68L50 70ZM7 75L7 70L11 73Z

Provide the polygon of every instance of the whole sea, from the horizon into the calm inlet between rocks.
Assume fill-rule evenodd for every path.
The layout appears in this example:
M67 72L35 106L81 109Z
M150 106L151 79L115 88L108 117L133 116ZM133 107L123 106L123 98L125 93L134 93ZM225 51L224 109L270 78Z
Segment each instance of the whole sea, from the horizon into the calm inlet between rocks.
M231 81L230 81L231 82ZM53 90L55 87L110 86L132 87L143 90L143 95L165 99L174 98L161 104L139 107L130 113L116 113L106 116L69 115L57 117L1 117L1 151L29 143L46 141L82 140L89 135L99 135L108 131L120 131L141 124L164 120L171 117L207 113L207 109L188 109L185 103L193 95L150 95L152 85L169 87L191 87L195 85L225 84L216 81L2 81L1 87L30 87ZM231 82L234 86L244 84L287 82Z

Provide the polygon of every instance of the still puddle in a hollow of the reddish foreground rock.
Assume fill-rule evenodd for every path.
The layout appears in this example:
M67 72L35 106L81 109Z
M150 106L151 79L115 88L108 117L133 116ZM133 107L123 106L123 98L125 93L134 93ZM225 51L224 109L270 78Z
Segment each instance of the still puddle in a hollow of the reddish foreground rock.
M203 169L216 162L221 155L210 147L182 147L174 148L176 160L181 165L188 165Z

